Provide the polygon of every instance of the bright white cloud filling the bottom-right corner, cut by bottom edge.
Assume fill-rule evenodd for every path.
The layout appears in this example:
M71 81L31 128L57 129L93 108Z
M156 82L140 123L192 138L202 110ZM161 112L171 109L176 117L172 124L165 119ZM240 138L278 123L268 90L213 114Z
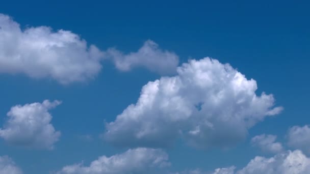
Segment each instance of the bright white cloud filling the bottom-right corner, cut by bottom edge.
M301 151L288 151L271 158L257 156L237 174L307 174L310 173L310 159Z

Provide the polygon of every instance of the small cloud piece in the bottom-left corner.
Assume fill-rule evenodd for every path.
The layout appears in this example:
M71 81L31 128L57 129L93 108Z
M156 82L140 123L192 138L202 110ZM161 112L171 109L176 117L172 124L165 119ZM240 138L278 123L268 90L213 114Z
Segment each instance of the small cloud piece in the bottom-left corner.
M0 174L21 174L22 171L8 156L0 156Z

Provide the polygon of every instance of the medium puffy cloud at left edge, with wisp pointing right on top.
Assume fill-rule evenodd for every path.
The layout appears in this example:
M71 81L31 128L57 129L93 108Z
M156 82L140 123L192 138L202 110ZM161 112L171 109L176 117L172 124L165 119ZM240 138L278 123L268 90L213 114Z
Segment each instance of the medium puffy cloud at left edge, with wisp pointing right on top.
M7 122L0 129L0 137L14 146L53 149L60 132L50 124L52 116L48 110L60 103L45 100L43 103L13 106L7 113Z

